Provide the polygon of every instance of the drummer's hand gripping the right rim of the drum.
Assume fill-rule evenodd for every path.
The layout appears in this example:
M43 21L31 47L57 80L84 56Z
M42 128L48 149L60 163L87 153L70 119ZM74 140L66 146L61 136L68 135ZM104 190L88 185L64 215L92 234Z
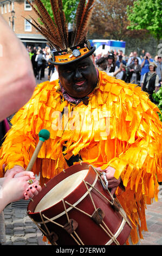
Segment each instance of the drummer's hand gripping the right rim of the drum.
M116 188L119 186L121 182L121 178L118 180L114 178L115 169L111 166L108 166L105 170L102 170L100 167L95 168L96 170L99 170L100 172L106 173L106 179L108 180L108 188L111 188L111 194L113 194L116 191ZM103 175L101 175L101 178L104 180Z

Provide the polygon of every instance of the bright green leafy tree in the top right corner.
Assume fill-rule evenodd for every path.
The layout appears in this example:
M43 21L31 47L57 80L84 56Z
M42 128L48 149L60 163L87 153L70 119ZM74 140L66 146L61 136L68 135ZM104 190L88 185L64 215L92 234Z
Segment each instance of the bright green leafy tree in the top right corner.
M162 4L161 0L137 0L132 7L127 7L128 20L131 22L128 29L147 29L157 39L162 38Z

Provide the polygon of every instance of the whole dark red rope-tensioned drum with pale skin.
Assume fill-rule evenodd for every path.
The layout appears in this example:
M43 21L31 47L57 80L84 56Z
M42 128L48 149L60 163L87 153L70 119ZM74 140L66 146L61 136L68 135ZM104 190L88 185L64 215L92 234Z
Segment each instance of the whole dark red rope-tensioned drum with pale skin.
M118 200L86 162L44 184L28 215L51 245L124 245L131 232Z

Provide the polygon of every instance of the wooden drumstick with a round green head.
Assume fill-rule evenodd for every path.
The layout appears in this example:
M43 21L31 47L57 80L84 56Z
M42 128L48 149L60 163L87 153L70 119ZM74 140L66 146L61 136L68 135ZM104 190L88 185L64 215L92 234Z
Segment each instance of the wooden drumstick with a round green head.
M27 167L27 169L26 169L26 170L28 170L28 171L30 171L30 170L32 169L32 167L33 167L33 165L34 165L34 163L35 163L35 161L36 161L36 158L37 158L37 156L38 156L38 153L39 153L40 150L41 150L41 147L42 147L42 145L43 145L43 142L44 142L44 141L47 141L47 139L49 139L49 137L50 137L50 132L49 132L48 130L46 130L46 129L43 129L43 130L41 130L41 131L39 132L38 136L39 136L40 138L39 138L38 144L37 144L37 146L36 146L36 148L35 148L35 151L34 151L34 153L33 153L33 156L31 157L30 162L29 162L29 164L28 164L28 167Z

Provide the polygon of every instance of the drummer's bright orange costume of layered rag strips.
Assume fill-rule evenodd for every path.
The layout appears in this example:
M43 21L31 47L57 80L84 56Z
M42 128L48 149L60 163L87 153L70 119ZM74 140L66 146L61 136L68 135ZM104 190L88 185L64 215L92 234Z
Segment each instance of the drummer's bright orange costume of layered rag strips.
M12 119L0 152L1 176L4 163L6 170L16 164L28 166L38 133L47 129L50 138L33 167L35 174L41 173L41 183L66 169L64 157L68 160L72 155L79 154L94 167L115 168L115 178L121 176L125 186L125 192L118 187L116 196L132 221L132 242L137 243L137 227L140 238L141 231L147 230L146 204L158 200L158 181L162 181L158 107L140 87L102 71L98 86L88 95L88 105L69 103L59 88L59 80L40 84Z

